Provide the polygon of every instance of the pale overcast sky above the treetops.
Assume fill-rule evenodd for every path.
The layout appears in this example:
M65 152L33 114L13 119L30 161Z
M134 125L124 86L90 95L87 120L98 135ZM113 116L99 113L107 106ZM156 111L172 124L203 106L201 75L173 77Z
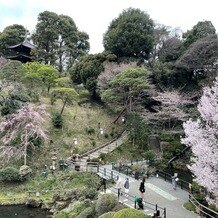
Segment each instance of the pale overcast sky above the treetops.
M78 29L88 33L90 53L98 53L110 22L129 7L183 31L203 20L210 20L218 31L218 0L0 0L0 31L12 24L33 31L38 14L48 10L72 17Z

